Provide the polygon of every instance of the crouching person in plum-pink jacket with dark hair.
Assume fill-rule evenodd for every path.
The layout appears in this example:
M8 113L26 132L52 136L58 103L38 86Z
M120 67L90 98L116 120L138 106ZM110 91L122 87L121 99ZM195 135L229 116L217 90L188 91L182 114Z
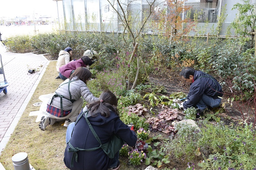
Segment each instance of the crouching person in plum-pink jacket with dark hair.
M71 61L64 66L60 67L59 76L62 80L66 80L70 78L71 74L75 71L75 69L79 67L91 66L92 61L88 56L83 56L79 60Z

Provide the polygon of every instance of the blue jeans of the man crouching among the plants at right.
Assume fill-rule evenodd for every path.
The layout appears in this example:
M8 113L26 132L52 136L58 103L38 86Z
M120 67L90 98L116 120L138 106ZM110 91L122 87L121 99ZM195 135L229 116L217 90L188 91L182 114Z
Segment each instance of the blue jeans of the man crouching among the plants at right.
M198 109L204 110L207 108L207 106L216 108L220 106L220 102L221 102L221 98L213 99L212 97L203 94L202 99L199 100L196 106L198 107Z

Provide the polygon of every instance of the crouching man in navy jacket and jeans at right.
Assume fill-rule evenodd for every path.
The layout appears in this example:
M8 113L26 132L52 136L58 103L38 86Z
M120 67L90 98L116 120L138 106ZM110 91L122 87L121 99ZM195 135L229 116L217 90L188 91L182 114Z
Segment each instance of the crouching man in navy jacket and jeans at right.
M207 107L215 108L220 105L223 96L222 88L218 81L209 74L185 67L180 76L190 83L187 100L180 104L181 109L190 107L198 108L199 114L203 114Z

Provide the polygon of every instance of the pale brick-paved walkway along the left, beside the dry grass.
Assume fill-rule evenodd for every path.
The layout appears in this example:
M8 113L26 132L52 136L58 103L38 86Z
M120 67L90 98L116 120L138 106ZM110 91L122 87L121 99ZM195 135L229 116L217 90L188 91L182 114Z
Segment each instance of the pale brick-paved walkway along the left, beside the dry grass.
M0 155L49 63L42 54L6 52L1 56L3 65L6 64L3 69L9 86L7 94L0 93ZM29 69L38 71L30 74ZM0 81L3 80L3 74L0 74Z

